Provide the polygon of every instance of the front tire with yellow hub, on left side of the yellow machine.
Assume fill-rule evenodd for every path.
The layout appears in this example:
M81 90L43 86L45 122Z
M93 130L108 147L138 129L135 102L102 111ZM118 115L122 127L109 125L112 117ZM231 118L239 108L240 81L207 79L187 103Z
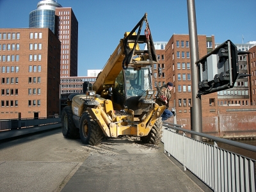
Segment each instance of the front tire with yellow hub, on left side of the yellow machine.
M103 138L103 132L96 120L88 112L85 112L80 121L80 138L83 144L99 145Z

